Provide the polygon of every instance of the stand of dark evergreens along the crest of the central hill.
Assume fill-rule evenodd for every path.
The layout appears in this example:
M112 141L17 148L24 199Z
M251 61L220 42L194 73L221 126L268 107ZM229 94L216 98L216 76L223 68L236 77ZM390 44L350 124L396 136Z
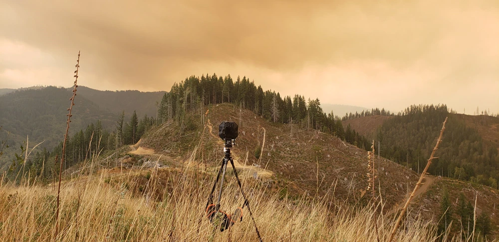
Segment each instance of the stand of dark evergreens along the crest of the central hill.
M231 75L218 77L216 74L190 76L175 83L163 96L159 108L161 122L170 119L181 121L186 114L202 114L204 106L231 103L239 109L247 109L272 122L294 123L303 128L330 133L358 147L370 147L369 141L355 130L343 127L340 118L331 111L326 114L318 98L310 99L295 94L281 95L272 90L263 91L254 81L244 76L233 80Z

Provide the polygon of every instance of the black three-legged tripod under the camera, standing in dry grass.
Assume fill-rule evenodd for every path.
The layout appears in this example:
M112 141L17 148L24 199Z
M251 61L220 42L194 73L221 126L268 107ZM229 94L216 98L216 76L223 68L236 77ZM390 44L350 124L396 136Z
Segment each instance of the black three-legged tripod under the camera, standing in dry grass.
M206 212L208 214L208 219L213 223L214 217L216 216L217 213L222 213L223 214L223 224L221 231L223 232L226 229L229 229L232 225L234 225L234 221L232 220L231 216L229 216L226 212L220 210L220 201L222 200L222 192L224 191L224 180L225 180L225 174L227 171L227 165L229 161L231 162L232 169L234 170L234 174L236 175L236 179L238 181L239 188L241 189L241 193L243 194L243 198L245 200L242 208L238 208L236 212L232 215L232 217L239 217L241 221L243 221L243 216L242 216L242 210L246 207L248 207L248 211L250 212L250 217L251 220L253 221L253 225L256 229L256 234L258 235L258 239L260 242L263 242L260 236L260 232L258 231L258 227L256 226L256 223L254 222L253 214L251 213L250 209L250 203L246 197L245 192L243 191L243 185L241 184L241 180L239 180L238 176L238 171L236 170L236 166L234 165L234 159L231 156L231 148L234 145L234 139L229 139L225 140L225 147L224 147L224 153L225 156L222 158L222 165L220 166L220 170L217 175L217 179L215 183L213 184L212 192L210 193L210 197L208 198L208 203L206 204ZM215 188L217 187L217 183L219 182L220 175L222 174L222 180L220 181L220 192L218 194L218 200L217 204L213 204L213 193L215 192Z

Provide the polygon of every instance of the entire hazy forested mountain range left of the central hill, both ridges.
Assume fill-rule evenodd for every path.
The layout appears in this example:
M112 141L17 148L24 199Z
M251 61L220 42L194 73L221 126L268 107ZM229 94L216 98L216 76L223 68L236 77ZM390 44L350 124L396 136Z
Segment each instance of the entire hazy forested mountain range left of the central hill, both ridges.
M66 128L67 108L72 88L30 87L0 89L0 140L5 140L10 132L8 144L0 157L2 165L10 161L14 152L29 136L29 146L33 147L45 140L39 147L52 150L63 139ZM85 130L91 123L101 121L102 127L113 131L118 116L125 111L125 121L136 111L139 119L144 115L156 117L156 102L161 101L166 92L140 91L99 91L83 86L78 87L69 134ZM25 146L25 144L23 145Z

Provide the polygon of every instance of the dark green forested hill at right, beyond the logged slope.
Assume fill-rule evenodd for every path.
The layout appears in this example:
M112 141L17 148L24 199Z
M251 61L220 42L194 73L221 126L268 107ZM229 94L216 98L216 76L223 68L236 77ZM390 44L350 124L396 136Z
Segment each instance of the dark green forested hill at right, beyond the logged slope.
M430 166L430 174L498 188L499 117L456 114L446 105L413 105L398 115L374 112L374 116L380 115L392 118L384 119L379 126L364 128L364 134L380 142L381 156L414 171L423 170L442 121L449 117L439 159ZM349 114L342 120L347 125L356 119L369 123L374 118L369 116L372 112Z

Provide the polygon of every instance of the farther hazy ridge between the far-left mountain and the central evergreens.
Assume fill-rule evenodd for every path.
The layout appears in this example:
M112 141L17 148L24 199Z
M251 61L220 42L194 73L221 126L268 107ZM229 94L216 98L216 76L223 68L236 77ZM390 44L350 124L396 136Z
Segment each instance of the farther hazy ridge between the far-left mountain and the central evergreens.
M97 104L101 109L114 114L125 111L126 116L131 116L133 111L142 116L156 117L156 102L161 102L166 92L140 92L140 91L99 91L88 87L79 86L78 94Z

